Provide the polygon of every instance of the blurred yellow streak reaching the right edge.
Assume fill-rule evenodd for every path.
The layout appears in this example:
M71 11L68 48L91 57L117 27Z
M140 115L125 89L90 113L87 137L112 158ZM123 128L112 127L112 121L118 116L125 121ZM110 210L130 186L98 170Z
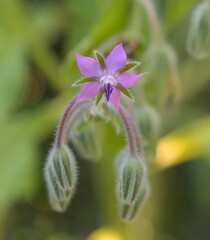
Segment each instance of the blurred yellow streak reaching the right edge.
M198 119L160 139L156 162L170 167L199 156L210 155L210 116Z

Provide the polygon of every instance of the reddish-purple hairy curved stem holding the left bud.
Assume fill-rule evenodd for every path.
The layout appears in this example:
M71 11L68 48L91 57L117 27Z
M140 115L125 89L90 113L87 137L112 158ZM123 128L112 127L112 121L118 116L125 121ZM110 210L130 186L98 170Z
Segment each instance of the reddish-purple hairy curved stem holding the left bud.
M68 104L68 106L66 107L66 110L61 118L58 130L57 130L57 134L56 134L56 140L55 140L55 146L56 147L60 147L61 143L62 143L62 138L63 138L63 130L65 127L65 122L69 116L69 113L71 112L73 106L75 105L75 100L77 97L74 97Z

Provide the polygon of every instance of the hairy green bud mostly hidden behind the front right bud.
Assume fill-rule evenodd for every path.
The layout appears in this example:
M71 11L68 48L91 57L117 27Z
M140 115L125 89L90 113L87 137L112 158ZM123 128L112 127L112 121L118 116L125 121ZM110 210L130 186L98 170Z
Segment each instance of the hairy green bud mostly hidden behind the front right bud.
M150 187L148 182L145 180L135 202L131 204L120 203L120 217L126 222L133 220L139 213L139 210L143 206L149 192Z

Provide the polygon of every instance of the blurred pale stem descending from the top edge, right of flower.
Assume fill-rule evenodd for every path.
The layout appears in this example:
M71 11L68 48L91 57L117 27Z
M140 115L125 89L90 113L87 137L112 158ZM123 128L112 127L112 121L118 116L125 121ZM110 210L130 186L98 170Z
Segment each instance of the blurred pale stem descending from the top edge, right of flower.
M139 1L144 5L147 11L156 42L158 44L163 43L164 37L161 29L161 24L152 1L151 0L139 0Z

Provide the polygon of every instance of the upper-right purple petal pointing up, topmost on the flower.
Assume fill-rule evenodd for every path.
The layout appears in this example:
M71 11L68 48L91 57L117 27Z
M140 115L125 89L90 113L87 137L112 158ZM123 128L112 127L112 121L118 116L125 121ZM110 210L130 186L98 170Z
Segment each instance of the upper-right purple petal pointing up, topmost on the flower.
M112 75L126 65L127 56L123 49L122 43L117 45L105 60L108 74Z

